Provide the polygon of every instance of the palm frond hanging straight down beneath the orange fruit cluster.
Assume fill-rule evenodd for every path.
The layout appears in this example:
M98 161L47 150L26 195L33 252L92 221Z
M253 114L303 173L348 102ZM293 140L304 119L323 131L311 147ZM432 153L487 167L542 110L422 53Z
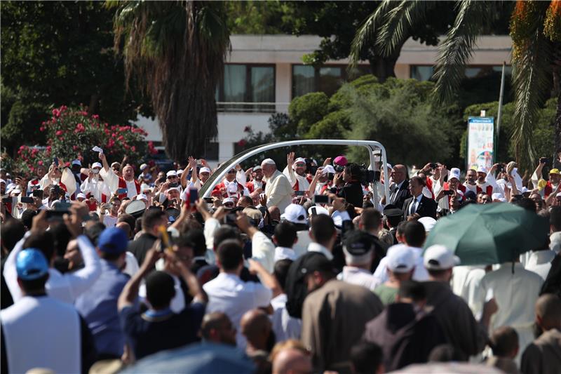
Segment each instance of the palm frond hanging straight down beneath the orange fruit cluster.
M517 58L513 58L513 89L515 92L514 131L512 135L516 158L524 166L531 166L536 159L533 143L534 123L539 109L549 97L552 84L553 51L536 27L532 38L516 46Z

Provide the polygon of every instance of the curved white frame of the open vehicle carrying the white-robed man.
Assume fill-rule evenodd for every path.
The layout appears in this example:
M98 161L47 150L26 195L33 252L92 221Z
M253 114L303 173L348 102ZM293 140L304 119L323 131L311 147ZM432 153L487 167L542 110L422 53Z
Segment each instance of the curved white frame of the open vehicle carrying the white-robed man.
M378 171L379 166L378 162L375 162L375 156L381 153L381 161L382 161L382 168L384 171L384 175L386 175L386 180L388 174L388 159L386 156L386 148L381 145L379 142L375 142L374 140L344 140L344 139L309 139L309 140L290 140L288 142L276 142L276 143L269 143L266 145L260 145L257 147L252 147L250 149L245 149L245 151L236 154L234 157L225 161L220 165L220 167L215 171L214 174L210 175L210 178L205 182L201 191L199 192L199 196L202 197L210 197L212 193L212 189L215 188L222 178L226 175L226 173L231 170L231 168L235 168L238 163L249 159L251 156L255 156L256 154L268 151L269 149L275 149L280 147L291 147L294 145L358 145L362 147L366 147L368 150L368 154L370 155L370 166L368 167L370 170ZM282 169L281 169L282 170ZM377 183L371 183L372 191L374 193L374 206L377 205L379 202L377 196ZM386 195L386 201L389 201L390 194L389 194L389 187L386 183L384 183L384 194Z

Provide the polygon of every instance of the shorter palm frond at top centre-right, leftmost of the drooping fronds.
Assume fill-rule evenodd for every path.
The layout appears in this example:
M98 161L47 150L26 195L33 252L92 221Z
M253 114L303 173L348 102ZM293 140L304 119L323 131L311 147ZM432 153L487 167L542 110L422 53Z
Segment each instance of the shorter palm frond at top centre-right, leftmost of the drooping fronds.
M396 48L405 43L410 36L409 30L424 22L426 12L433 6L433 1L402 1L388 11L376 39L381 55L392 55Z

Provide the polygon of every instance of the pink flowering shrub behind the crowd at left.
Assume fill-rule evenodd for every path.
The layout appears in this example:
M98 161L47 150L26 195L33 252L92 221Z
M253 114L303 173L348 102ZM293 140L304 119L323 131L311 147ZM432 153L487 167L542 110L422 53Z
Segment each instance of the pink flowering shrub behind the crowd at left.
M46 147L22 145L13 163L14 171L33 174L39 163L48 166L53 157L66 163L79 159L82 166L99 161L92 148L97 145L107 155L109 163L128 156L130 163L139 163L150 154L158 153L152 142L146 142L147 133L135 126L110 125L100 121L100 116L88 115L82 108L62 106L53 109L52 116L41 123L40 131L46 132Z

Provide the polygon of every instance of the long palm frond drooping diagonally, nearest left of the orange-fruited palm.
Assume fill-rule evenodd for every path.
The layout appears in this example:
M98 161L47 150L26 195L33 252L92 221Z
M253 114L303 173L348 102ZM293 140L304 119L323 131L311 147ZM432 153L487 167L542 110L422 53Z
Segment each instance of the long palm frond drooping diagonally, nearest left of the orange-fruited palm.
M489 16L488 7L487 1L459 1L454 26L438 48L434 74L436 102L448 102L456 95L460 82L464 79L464 69L473 53L475 41Z

